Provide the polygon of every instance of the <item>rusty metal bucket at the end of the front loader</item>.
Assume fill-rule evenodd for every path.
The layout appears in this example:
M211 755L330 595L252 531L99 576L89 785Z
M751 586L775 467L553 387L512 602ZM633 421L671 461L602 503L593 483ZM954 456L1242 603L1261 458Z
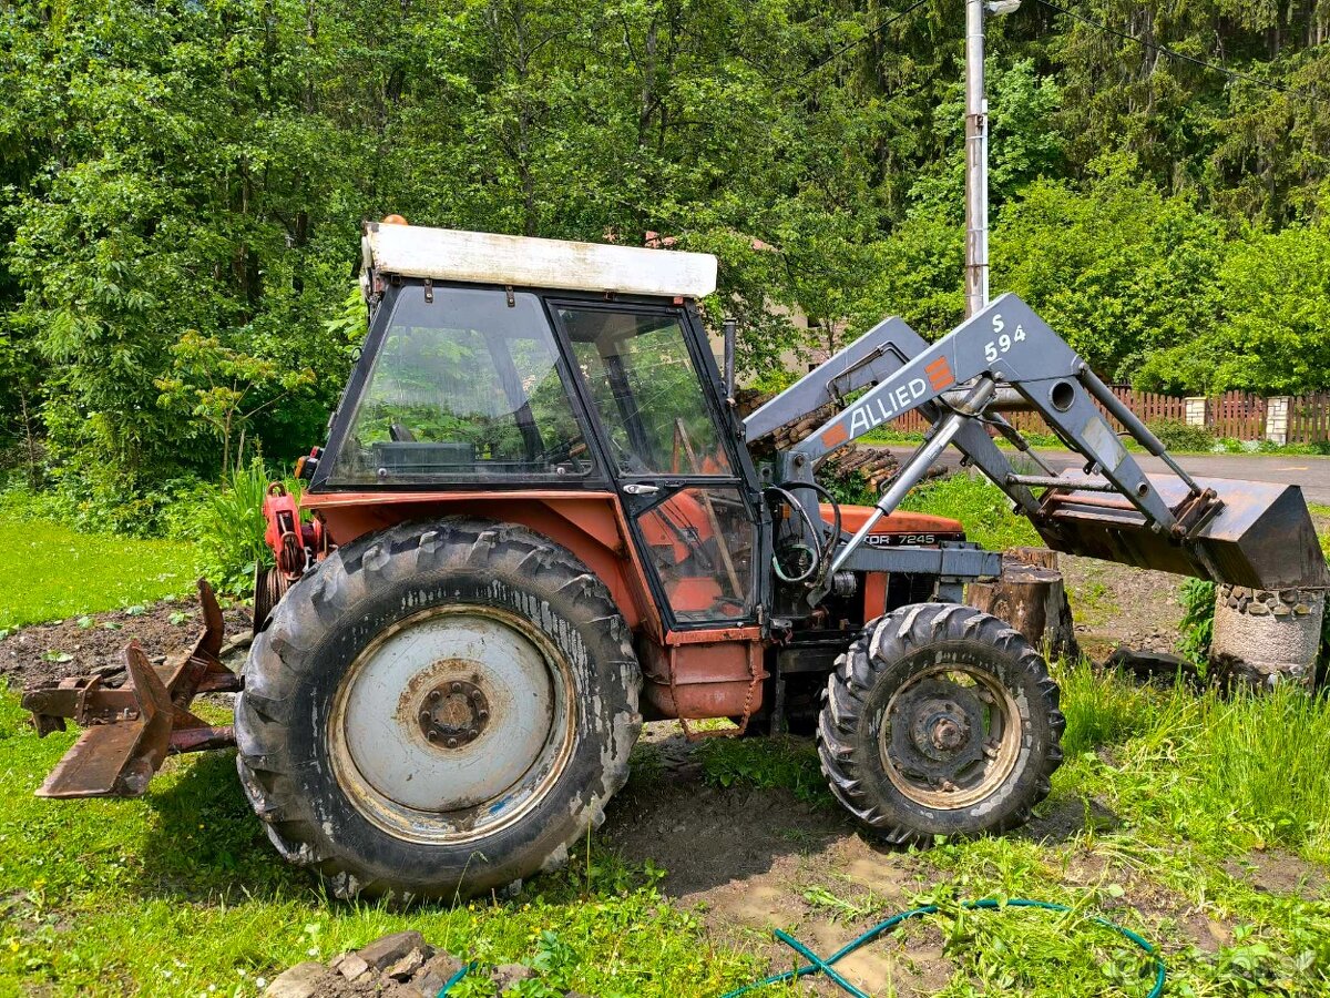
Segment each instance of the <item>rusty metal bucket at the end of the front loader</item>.
M1073 472L1064 476L1076 478ZM1172 510L1185 508L1189 496L1181 479L1149 479ZM1221 504L1182 538L1152 531L1125 498L1091 491L1051 490L1036 527L1049 547L1069 555L1256 589L1330 585L1301 488L1225 478L1196 482L1202 490L1213 490Z

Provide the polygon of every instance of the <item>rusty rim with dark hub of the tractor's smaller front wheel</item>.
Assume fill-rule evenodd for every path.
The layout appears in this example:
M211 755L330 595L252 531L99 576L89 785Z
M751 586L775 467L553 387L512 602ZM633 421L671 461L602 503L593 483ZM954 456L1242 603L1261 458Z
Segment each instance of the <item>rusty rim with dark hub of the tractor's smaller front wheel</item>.
M892 785L915 804L958 810L1011 776L1024 721L990 671L940 663L910 676L887 701L878 753Z

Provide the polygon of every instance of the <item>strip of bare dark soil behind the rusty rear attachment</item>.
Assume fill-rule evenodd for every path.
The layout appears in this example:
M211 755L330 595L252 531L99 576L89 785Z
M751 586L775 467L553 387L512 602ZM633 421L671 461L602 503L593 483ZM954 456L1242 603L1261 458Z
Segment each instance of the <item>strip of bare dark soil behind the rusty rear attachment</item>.
M229 607L222 616L227 637L249 632L246 608ZM192 641L202 627L198 603L193 600L165 600L142 612L112 611L25 627L0 640L0 680L8 680L11 689L27 689L118 667L125 645L134 637L149 660L160 663Z

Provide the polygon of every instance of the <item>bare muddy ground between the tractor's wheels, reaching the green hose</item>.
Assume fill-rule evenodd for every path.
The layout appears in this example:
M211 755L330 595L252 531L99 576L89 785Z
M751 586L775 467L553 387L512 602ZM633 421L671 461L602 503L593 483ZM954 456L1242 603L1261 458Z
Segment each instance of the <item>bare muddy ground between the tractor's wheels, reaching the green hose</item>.
M774 939L783 929L830 954L927 886L919 857L874 842L833 802L810 804L783 788L716 788L674 724L650 724L649 778L610 802L602 829L630 862L666 870L661 892L697 910L709 935L757 953L770 973L803 963ZM900 995L932 994L954 966L927 926L902 926L837 966L859 987L887 981ZM810 978L809 994L843 994Z

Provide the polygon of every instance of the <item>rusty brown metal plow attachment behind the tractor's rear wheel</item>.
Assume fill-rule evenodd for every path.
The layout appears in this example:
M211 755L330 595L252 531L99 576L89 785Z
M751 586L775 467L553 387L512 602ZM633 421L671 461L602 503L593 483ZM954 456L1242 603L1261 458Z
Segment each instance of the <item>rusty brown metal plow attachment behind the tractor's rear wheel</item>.
M37 735L64 731L66 720L84 728L39 797L138 797L166 756L235 744L229 725L213 727L189 709L200 693L241 688L241 677L222 665L222 611L203 580L198 599L203 629L164 665L154 668L132 640L125 647L124 685L106 685L102 671L24 693Z

